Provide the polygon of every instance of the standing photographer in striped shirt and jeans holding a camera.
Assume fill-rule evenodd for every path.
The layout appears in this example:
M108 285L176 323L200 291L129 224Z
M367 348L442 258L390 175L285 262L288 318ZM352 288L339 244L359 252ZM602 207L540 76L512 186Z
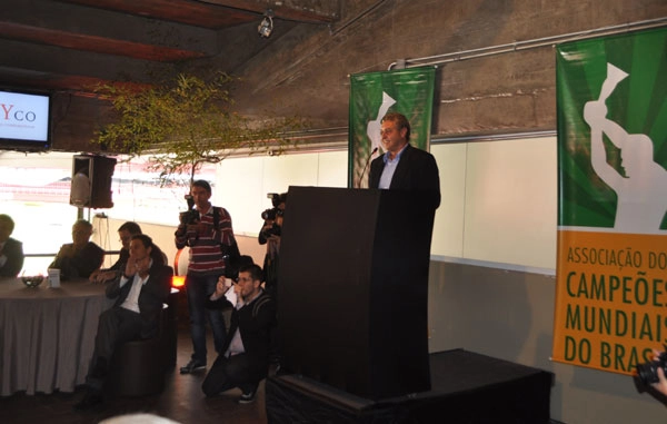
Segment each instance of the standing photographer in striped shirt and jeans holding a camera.
M225 276L223 247L235 245L231 217L221 207L212 206L211 186L208 181L192 183L188 210L179 216L176 230L176 247L190 247L190 262L186 276L186 294L190 310L190 333L193 353L190 362L180 368L181 374L190 374L206 368L206 317L211 325L216 351L225 345L226 327L221 310L207 309L207 298L216 292L220 276Z

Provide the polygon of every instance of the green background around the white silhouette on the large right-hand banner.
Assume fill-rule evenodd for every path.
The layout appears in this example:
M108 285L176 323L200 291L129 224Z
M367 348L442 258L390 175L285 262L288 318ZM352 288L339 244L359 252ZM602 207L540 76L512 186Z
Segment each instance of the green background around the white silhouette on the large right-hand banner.
M611 228L617 201L623 201L591 165L587 102L605 100L603 118L628 135L650 139L655 162L667 168L666 34L661 28L558 47L559 225ZM620 80L607 78L609 66L618 69L613 73ZM627 178L618 142L605 132L604 144L609 166ZM667 223L663 220L660 228L667 229Z

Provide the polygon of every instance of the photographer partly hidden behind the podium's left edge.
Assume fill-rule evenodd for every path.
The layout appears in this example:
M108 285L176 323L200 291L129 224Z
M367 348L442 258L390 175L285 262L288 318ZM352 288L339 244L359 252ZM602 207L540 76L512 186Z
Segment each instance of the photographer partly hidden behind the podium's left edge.
M260 245L267 245L263 263L265 289L268 294L276 297L278 292L278 254L280 250L280 234L282 230L287 193L280 195L269 193L267 197L271 199L273 207L261 213L261 218L265 223L259 231L258 241Z

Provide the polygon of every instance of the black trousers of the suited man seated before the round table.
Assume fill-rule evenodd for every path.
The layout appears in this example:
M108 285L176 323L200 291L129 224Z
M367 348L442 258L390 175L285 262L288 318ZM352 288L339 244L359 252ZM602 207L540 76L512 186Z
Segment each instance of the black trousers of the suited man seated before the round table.
M113 306L100 315L94 337L94 352L86 376L86 383L90 388L102 388L113 351L126 342L141 338L141 315L120 306Z

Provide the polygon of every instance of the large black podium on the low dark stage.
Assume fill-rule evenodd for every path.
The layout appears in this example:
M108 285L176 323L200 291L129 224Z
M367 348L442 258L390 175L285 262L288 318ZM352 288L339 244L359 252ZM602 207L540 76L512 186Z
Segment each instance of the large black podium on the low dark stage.
M374 400L430 390L429 205L424 191L289 188L278 285L285 369Z

